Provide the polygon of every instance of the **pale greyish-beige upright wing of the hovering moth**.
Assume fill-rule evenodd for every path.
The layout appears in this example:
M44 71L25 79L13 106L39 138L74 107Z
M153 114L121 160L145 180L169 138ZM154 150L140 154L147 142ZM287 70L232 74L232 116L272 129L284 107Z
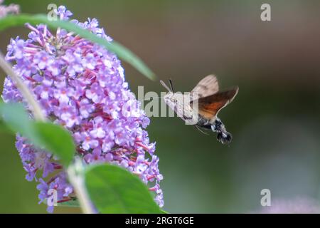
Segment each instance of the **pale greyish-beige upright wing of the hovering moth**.
M213 76L203 78L193 90L191 90L191 100L208 97L217 93L219 90L218 79Z

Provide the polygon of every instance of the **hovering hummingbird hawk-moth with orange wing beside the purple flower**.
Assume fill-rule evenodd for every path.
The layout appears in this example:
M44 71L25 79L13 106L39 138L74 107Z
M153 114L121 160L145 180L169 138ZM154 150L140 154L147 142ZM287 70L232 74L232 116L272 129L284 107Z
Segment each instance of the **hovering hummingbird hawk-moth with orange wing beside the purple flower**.
M228 133L218 113L222 108L231 103L238 93L238 86L228 90L219 90L218 80L210 75L203 78L191 93L175 93L172 81L169 80L170 88L163 81L162 86L168 90L164 95L164 102L176 112L178 117L189 125L210 129L218 133L217 140L223 144L229 144L232 135Z

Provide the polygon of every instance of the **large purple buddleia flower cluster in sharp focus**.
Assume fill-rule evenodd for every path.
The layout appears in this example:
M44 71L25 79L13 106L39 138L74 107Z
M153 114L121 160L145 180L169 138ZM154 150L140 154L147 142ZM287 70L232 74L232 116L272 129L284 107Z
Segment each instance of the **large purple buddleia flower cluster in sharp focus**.
M60 20L72 16L64 6L56 14ZM71 22L112 41L97 19ZM26 27L31 30L28 39L11 39L6 60L14 64L46 118L73 135L77 156L85 163L109 162L124 167L155 192L155 201L162 207L159 158L145 130L149 118L129 90L117 56L60 28L51 33L43 24ZM5 102L23 103L30 110L8 77L2 97ZM58 202L73 199L73 187L57 157L33 147L21 135L16 137L16 148L27 172L26 180L38 182L40 202L53 200L52 190L58 193ZM53 207L48 211L53 212Z

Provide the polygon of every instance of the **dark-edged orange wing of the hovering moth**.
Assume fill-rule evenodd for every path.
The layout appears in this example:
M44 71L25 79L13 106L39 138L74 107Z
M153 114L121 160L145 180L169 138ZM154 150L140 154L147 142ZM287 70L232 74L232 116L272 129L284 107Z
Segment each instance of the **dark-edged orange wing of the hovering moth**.
M198 113L211 120L218 112L231 103L238 93L238 86L229 90L220 91L213 95L198 99ZM192 103L191 103L192 104Z

